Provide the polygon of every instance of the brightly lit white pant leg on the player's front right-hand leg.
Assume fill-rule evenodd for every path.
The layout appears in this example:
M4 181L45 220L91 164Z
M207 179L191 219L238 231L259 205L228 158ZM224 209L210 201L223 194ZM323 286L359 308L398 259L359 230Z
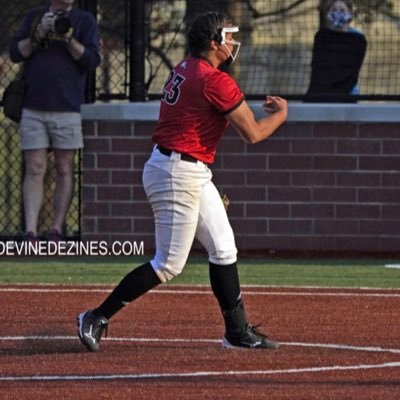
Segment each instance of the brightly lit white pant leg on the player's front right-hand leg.
M217 265L233 264L237 249L232 227L218 190L209 181L202 190L196 238L206 248L209 261Z

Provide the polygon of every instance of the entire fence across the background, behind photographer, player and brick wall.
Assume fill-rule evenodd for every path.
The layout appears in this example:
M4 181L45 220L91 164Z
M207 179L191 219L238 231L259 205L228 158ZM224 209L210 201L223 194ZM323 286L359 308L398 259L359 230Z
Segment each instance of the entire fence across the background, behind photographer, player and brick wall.
M134 3L134 1L136 3ZM133 5L144 7L145 97L158 99L169 70L186 54L185 29L196 13L221 10L228 13L240 32L238 60L229 72L248 99L266 94L302 100L311 73L314 35L319 29L320 1L326 0L80 0L76 6L96 14L101 35L101 65L88 82L90 100L115 101L131 98L138 74L132 69L136 54L131 29L135 26ZM352 25L368 41L359 84L359 100L400 100L400 1L355 0ZM14 79L18 66L8 57L12 35L25 13L45 7L46 0L0 0L0 97ZM141 16L139 16L140 18ZM140 20L139 22L143 22ZM137 39L137 38L136 38ZM49 66L51 68L52 66ZM0 112L0 237L23 232L22 157L17 126ZM52 215L54 167L46 177L44 207L39 232L45 232ZM80 234L80 154L76 158L75 193L66 221L66 234Z

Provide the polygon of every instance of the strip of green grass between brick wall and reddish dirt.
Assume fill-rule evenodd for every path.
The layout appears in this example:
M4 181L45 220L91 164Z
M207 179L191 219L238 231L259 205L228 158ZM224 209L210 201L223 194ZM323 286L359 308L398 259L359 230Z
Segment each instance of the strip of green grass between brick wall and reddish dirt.
M141 257L8 259L0 261L0 283L115 284ZM241 260L242 285L400 288L400 269L389 259ZM209 284L205 259L191 258L172 284Z

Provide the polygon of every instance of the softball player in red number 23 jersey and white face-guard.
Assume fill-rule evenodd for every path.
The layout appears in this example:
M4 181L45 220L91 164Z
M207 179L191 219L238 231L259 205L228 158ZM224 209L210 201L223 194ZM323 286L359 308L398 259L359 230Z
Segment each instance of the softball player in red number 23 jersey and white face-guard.
M234 235L209 169L229 123L246 142L257 143L287 117L286 101L267 97L268 115L255 120L235 81L218 69L236 58L240 42L233 34L238 31L225 14L208 12L198 16L188 32L190 56L171 71L164 86L155 146L143 171L155 218L156 252L126 275L99 307L78 315L78 335L90 351L99 349L113 315L182 272L195 237L208 252L211 287L225 321L223 346L278 348L247 320Z

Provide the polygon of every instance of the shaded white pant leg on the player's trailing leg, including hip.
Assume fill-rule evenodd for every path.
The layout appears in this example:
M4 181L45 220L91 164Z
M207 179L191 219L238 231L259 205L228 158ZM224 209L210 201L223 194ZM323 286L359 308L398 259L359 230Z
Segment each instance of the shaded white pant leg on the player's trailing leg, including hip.
M153 209L156 254L150 261L162 282L182 272L198 225L203 186L211 172L201 162L180 160L158 150L143 171L143 185Z

